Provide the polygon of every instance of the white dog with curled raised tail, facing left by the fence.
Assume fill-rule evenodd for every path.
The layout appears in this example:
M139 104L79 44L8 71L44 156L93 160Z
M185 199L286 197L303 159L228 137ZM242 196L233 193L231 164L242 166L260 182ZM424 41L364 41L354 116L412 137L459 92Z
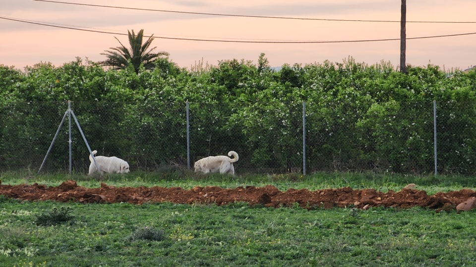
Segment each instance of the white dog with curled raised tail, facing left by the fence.
M220 172L220 174L231 174L235 176L233 163L238 161L238 153L230 151L228 152L228 156L233 156L233 158L227 156L210 156L197 160L194 165L195 173L202 172L208 174Z

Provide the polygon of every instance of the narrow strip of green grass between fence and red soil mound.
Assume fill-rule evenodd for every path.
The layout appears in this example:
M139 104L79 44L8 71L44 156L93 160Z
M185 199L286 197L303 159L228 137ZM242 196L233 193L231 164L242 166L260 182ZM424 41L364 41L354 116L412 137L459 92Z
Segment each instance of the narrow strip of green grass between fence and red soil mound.
M476 190L476 180L472 177L461 176L409 176L397 174L374 173L316 173L302 176L300 174L287 175L242 175L236 178L221 175L196 175L189 171L146 173L133 172L126 175L105 175L87 177L83 174L49 174L31 175L27 172L0 173L3 184L39 183L51 186L60 185L63 181L73 179L78 185L84 187L99 187L101 182L115 186L180 186L191 189L194 186L221 186L234 188L238 186L254 185L276 186L285 191L289 188L306 188L317 190L323 188L352 187L354 189L374 188L377 191L400 191L408 183L416 183L416 189L425 190L432 195L437 192L457 191L462 188Z

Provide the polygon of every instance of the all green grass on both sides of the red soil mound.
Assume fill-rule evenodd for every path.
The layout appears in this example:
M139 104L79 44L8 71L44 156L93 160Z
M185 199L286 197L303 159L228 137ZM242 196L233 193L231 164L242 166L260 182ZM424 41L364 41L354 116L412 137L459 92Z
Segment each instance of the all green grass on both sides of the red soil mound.
M99 186L81 175L0 175L2 184ZM115 186L272 184L289 188L474 189L472 178L373 174L194 177L133 173ZM1 266L474 266L475 212L305 210L247 203L177 205L22 202L0 196Z

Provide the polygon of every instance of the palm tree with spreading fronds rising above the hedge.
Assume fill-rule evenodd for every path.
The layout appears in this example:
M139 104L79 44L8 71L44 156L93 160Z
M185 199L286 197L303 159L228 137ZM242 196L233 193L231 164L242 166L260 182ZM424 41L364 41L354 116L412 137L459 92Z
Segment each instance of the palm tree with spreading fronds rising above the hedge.
M155 59L160 56L169 56L169 53L165 51L152 53L156 47L147 51L150 44L154 40L152 38L154 35L150 36L149 39L144 44L142 44L144 30L140 30L137 35L134 34L134 30L132 30L132 33L129 30L127 30L127 32L129 34L130 48L122 45L119 39L114 37L116 40L118 40L121 46L111 47L110 49L112 50L105 50L107 53L101 53L102 55L107 56L108 59L99 62L99 64L104 66L112 66L116 70L124 69L129 64L132 64L134 66L135 73L139 73L140 64L144 64L144 68L150 70L155 66L153 63Z

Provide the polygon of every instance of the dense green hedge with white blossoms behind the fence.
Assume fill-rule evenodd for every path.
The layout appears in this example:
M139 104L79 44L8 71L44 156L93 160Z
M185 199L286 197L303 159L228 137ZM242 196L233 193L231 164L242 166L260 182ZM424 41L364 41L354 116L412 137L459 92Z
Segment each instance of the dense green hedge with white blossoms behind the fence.
M433 101L437 103L438 172L476 174L475 72L452 76L437 66L284 65L260 56L189 71L159 59L153 71L105 70L76 61L25 71L0 66L0 170L37 170L67 101L91 149L132 168L191 164L235 150L241 171L302 172L302 103L306 166L312 171L434 172ZM88 151L73 130L73 167L86 172ZM67 170L67 120L47 170Z

